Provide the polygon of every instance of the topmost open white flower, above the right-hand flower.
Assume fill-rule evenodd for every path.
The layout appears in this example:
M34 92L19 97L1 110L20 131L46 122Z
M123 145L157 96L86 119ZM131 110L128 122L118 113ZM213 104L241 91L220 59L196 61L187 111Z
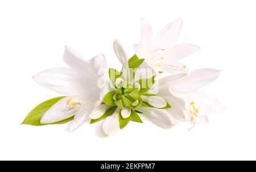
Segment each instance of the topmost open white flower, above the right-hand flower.
M134 51L139 58L145 59L144 65L166 73L187 72L187 66L179 60L200 48L193 44L174 45L181 32L182 20L179 18L167 24L154 37L150 23L142 18L141 24L141 43L134 45Z

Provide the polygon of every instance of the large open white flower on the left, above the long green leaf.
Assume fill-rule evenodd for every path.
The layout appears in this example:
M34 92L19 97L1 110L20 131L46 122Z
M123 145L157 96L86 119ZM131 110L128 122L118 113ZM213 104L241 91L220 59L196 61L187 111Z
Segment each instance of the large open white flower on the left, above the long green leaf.
M106 82L102 73L107 73L108 65L103 54L87 61L68 46L65 47L63 58L70 68L47 69L33 78L48 89L68 95L49 108L40 123L55 123L75 115L69 125L69 131L72 132L85 123L91 112L91 116L96 118L96 112L105 110L106 106L97 106L106 93L100 84L103 86ZM95 107L97 109L93 110Z

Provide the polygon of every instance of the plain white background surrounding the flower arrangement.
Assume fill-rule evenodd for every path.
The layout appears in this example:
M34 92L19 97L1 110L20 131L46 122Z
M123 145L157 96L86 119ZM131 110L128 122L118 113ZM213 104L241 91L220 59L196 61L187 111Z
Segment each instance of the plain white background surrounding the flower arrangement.
M0 2L0 160L256 160L256 10L254 1L1 1ZM181 17L179 43L200 52L189 69L224 73L203 90L226 107L210 123L177 124L165 130L150 121L130 123L102 138L100 123L68 132L68 124L19 125L37 104L59 96L32 80L46 68L66 66L64 45L89 59L113 52L119 39L133 55L140 18L156 33Z

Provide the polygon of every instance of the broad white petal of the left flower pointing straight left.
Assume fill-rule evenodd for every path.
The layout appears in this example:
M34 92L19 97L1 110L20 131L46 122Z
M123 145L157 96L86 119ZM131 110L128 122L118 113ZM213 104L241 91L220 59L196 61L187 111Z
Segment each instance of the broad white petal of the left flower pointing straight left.
M68 68L46 69L35 75L33 79L40 85L64 95L81 95L88 91L91 93L98 91L96 79L85 77Z

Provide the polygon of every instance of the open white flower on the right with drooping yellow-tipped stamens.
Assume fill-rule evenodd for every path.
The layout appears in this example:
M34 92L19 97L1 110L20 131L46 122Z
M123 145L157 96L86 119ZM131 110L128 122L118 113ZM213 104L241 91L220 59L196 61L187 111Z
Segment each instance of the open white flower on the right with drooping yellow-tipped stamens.
M224 106L212 96L199 91L221 74L220 70L202 68L188 74L179 73L159 79L158 95L172 108L168 112L176 119L193 123L207 123L207 114L218 114Z

